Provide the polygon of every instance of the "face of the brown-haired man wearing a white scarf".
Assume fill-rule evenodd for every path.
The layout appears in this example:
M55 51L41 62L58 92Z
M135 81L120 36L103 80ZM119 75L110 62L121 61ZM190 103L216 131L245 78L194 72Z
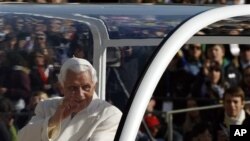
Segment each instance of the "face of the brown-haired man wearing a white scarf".
M226 95L224 99L224 108L229 117L237 117L243 109L244 103L239 96Z

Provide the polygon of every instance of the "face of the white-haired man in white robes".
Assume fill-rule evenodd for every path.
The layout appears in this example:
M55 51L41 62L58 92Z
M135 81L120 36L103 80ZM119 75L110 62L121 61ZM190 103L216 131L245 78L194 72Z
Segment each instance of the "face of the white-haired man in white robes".
M64 98L72 100L73 103L83 104L86 108L93 97L95 84L89 71L75 73L69 70L64 81Z

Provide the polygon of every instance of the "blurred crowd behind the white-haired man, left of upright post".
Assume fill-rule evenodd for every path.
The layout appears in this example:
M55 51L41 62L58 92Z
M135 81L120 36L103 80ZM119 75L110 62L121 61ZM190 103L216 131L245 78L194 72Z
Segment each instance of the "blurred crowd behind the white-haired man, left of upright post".
M73 56L88 58L90 49L85 49L88 42L84 39L89 29L69 20L11 14L0 19L0 98L6 101L1 102L5 104L1 129L6 131L1 132L1 140L15 141L16 132L33 116L38 102L62 96L58 82L62 63ZM13 129L11 133L5 125Z

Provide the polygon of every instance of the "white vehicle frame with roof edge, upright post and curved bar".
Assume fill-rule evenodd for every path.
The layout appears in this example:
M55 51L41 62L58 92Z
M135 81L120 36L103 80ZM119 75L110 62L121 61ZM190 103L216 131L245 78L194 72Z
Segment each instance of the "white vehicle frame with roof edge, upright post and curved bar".
M146 10L145 10L146 9ZM180 10L182 9L182 10ZM179 10L179 11L178 11ZM174 12L171 12L174 11ZM145 16L152 15L188 16L180 20L176 27L168 32L164 39L143 38L112 39L109 35L109 28L101 16L131 15ZM101 99L106 99L106 57L108 47L124 46L158 46L158 52L154 54L152 62L148 65L145 75L141 76L138 85L133 88L130 95L133 97L131 105L128 105L124 112L116 140L133 141L136 138L147 104L152 94L178 50L186 43L225 43L225 44L249 44L249 36L194 36L203 28L217 21L237 17L249 16L249 5L235 5L222 7L202 6L164 6L164 5L29 5L29 4L0 4L1 14L30 15L46 18L70 19L86 24L93 36L93 65L98 72L98 94ZM171 17L173 18L173 17ZM174 17L175 18L175 17ZM126 20L126 19L125 19ZM135 83L135 82L134 82ZM132 99L132 98L131 98ZM169 137L172 140L171 135Z

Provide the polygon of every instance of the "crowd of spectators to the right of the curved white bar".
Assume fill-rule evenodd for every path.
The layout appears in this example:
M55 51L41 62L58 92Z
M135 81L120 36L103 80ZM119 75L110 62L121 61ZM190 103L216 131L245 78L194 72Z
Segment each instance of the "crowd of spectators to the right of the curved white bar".
M234 47L237 53L232 52ZM175 141L228 141L230 125L249 125L245 104L250 99L249 63L249 45L184 45L170 62L144 116L154 138L167 139L168 123L162 114L167 112L166 103L173 105L168 110L223 104L219 109L174 115ZM141 131L147 133L143 127Z

